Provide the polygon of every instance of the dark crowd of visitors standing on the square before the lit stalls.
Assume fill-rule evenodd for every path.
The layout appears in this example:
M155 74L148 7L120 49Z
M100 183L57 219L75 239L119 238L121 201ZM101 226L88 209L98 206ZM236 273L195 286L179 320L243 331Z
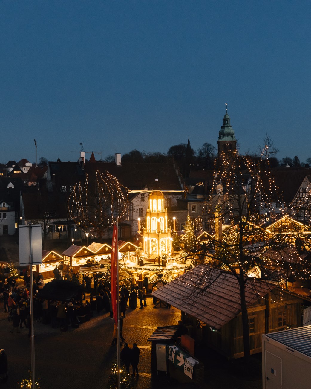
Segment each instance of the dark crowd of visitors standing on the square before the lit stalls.
M80 323L88 321L93 316L93 311L98 313L105 311L113 317L111 291L103 279L97 279L91 274L74 273L72 268L68 271L61 272L56 266L54 270L54 279L64 279L68 282L74 282L81 285L75 298L70 301L56 301L40 297L38 291L44 285L44 278L41 273L36 274L33 285L30 285L29 273L24 274L24 288L20 289L14 277L7 277L0 280L0 297L3 299L3 310L7 312L9 321L12 322L12 334L19 333L21 328L28 328L30 336L30 288L33 288L33 318L43 324L51 324L52 328L60 328L66 331L68 326L72 328L79 327ZM145 283L144 283L145 285ZM156 289L156 287L154 287ZM90 292L90 301L86 300L86 292ZM121 351L121 361L126 371L132 366L132 377L138 378L138 362L140 350L136 343L133 348L125 343L122 335L123 319L126 317L126 310L136 309L140 303L140 309L147 307L147 289L142 289L137 285L135 277L131 280L131 285L121 282L119 286L119 308L120 314L120 338L121 345L124 348ZM156 300L153 302L155 303ZM114 324L112 345L117 343L117 327ZM4 350L1 350L4 352ZM5 359L1 356L0 359ZM2 369L3 370L3 369ZM2 374L0 372L0 374ZM4 374L4 373L3 373Z

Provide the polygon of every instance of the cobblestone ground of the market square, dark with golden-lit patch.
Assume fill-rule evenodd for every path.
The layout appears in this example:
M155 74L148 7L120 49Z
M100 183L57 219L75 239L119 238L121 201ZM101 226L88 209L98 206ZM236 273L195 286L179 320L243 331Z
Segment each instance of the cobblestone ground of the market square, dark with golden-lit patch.
M182 385L168 382L166 377L151 379L150 358L151 342L147 338L157 328L178 324L180 310L175 308L153 308L152 299L147 299L147 307L140 310L126 311L123 321L123 336L131 345L136 342L140 348L140 377L135 381L136 389L146 388L195 388L196 385ZM5 349L9 361L9 380L2 385L7 389L19 388L23 378L30 370L30 338L28 329L22 328L21 333L12 335L12 323L7 320L0 306L0 349ZM52 328L35 322L35 360L36 377L40 377L42 389L77 389L106 387L110 367L116 362L116 346L111 346L114 320L107 313L97 314L90 321L80 324L79 328L68 328L61 332L59 328ZM259 389L260 381L243 382L224 374L222 367L217 363L206 366L207 389ZM0 387L2 387L0 385Z

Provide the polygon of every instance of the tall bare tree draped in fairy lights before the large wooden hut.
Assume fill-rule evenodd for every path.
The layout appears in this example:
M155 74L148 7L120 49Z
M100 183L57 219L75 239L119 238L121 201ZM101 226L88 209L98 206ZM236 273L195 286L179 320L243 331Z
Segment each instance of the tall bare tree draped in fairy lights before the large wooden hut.
M287 269L308 278L311 266L304 261L294 244L299 238L308 245L308 235L295 231L293 237L292 229L273 235L262 227L265 213L268 212L266 207L269 206L273 221L280 218L280 213L272 215L271 203L282 201L268 159L266 164L260 158L240 156L236 150L223 151L215 161L214 173L213 190L205 212L215 221L213 212L217 210L217 218L222 218L226 233L216 233L218 239L210 238L206 244L204 262L211 268L220 267L231 272L238 280L244 356L247 358L250 356L250 340L246 286L262 274L268 274L268 278L276 284L281 283L279 272L284 270L287 274ZM222 223L214 224L221 228ZM278 278L273 279L276 276ZM206 279L208 275L202 276L200 288L203 284L206 287Z

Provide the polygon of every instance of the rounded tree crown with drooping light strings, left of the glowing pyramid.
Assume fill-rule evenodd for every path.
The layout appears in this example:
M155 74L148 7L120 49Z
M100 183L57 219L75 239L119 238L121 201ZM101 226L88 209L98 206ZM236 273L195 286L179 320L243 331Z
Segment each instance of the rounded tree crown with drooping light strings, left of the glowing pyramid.
M96 170L73 187L68 214L79 228L100 240L117 214L119 222L129 219L128 191L107 170Z

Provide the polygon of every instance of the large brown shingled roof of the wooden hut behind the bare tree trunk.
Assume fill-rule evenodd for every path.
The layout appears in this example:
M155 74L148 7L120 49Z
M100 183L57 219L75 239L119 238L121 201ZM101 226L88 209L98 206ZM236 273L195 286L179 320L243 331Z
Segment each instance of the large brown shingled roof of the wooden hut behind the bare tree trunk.
M246 305L250 306L275 285L252 278L246 283ZM152 296L220 329L241 312L239 284L224 270L198 265L152 293Z

